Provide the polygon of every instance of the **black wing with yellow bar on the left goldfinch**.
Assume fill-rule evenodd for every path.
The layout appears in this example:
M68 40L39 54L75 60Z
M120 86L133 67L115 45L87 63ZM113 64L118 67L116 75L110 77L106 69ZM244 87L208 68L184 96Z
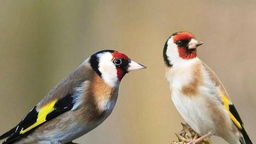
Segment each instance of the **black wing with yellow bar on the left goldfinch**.
M3 144L12 144L20 138L28 135L45 122L71 110L74 106L74 98L72 94L67 94L65 97L51 101L43 106L39 111L36 106L20 121L20 123L10 131L0 136L0 139L8 137Z

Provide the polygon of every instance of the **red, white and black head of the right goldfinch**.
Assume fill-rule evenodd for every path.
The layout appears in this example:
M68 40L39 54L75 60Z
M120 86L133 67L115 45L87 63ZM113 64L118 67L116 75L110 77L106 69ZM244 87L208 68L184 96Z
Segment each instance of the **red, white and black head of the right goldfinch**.
M197 47L203 44L190 32L176 32L164 44L163 58L167 66L197 57Z

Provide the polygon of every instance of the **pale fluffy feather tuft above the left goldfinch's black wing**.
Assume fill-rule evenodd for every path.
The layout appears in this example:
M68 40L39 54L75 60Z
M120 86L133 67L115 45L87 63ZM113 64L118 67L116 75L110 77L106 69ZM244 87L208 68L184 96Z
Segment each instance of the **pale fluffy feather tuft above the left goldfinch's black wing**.
M89 83L90 81L84 81L80 86L75 88L74 96L72 96L74 98L74 106L71 110L77 109L82 104L84 100L83 97L86 95L85 91L88 88Z

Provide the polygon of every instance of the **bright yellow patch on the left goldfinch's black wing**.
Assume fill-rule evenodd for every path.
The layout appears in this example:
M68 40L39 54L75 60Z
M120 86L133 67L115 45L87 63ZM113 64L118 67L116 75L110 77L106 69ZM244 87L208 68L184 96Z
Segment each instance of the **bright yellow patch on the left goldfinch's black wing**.
M20 134L26 133L26 132L30 131L31 129L35 128L36 126L45 122L47 114L51 113L54 110L54 105L56 102L57 102L57 100L54 100L54 101L50 102L49 104L43 106L39 110L36 122L34 124L32 124L30 127L26 128L24 130L22 129L20 131Z

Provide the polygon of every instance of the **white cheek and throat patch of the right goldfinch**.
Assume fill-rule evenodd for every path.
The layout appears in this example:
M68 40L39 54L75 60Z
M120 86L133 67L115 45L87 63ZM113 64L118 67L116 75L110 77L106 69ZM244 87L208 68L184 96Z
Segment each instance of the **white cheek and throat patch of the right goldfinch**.
M173 42L172 37L168 39L166 55L172 66L189 66L191 63L199 60L197 57L193 59L183 59L179 57L177 44Z

